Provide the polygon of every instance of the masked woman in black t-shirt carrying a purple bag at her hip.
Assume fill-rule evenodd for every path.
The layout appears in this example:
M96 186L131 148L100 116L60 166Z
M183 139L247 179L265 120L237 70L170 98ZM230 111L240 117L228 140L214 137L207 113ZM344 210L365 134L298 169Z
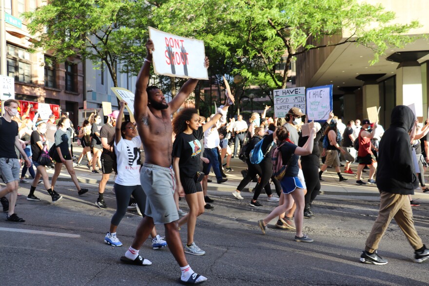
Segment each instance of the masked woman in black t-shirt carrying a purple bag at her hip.
M43 179L43 184L46 190L52 198L52 202L59 201L62 196L56 191L52 191L51 184L49 182L49 176L46 172L46 167L40 165L38 160L42 153L43 147L46 144L46 123L39 121L36 123L37 130L31 133L30 144L31 152L33 153L33 164L36 167L36 175L34 176L33 183L31 184L30 193L28 194L27 200L39 201L40 199L34 195L34 191L39 183L40 177Z

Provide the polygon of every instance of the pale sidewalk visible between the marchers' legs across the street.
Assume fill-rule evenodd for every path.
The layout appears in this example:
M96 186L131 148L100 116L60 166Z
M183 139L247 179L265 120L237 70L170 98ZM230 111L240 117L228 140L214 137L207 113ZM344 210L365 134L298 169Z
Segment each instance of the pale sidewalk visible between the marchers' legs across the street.
M82 152L82 148L80 146L77 146L76 143L73 145L73 153L76 156L79 156ZM101 179L101 171L99 171L99 174L93 174L91 171L88 170L86 167L86 156L82 159L82 166L75 167L76 175L78 176L78 180L80 183L86 183L86 184L96 184L98 185L99 180ZM222 184L216 183L215 174L213 172L210 173L209 178L213 180L212 183L208 183L208 190L209 191L216 191L216 192L227 192L230 193L235 190L235 188L238 186L240 181L243 179L243 176L241 175L242 170L246 170L247 165L242 162L238 158L231 159L231 168L234 170L233 172L227 172L227 178L228 181ZM357 164L353 163L351 165L351 170L353 172L356 171ZM343 170L343 169L341 169ZM54 170L47 170L49 177L51 178ZM379 196L378 189L375 185L367 185L367 186L358 186L355 185L356 178L354 174L345 174L342 173L342 175L345 178L348 178L349 180L346 182L339 183L338 182L338 176L335 172L335 169L327 169L326 172L323 173L323 178L326 180L326 182L322 182L322 188L320 191L320 194L324 195L349 195L349 196ZM368 172L363 173L362 179L364 181L368 180ZM429 182L429 177L425 175L426 182ZM67 170L63 168L61 170L61 174L59 175L58 181L70 181L70 175L68 174ZM115 175L114 173L110 176L110 179L108 181L108 185L113 185L115 181ZM251 182L246 188L244 188L243 192L251 192L256 183ZM272 184L272 190L273 193L275 193L274 185ZM262 190L262 193L264 193L264 190ZM429 203L429 192L423 193L421 190L416 190L415 195L413 196L413 199L419 198L419 202L428 202Z

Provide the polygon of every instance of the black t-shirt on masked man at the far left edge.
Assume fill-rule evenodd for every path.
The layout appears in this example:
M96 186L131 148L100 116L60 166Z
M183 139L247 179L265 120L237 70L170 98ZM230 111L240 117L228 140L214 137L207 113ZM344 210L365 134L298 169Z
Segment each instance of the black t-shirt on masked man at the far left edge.
M0 118L0 158L18 159L15 152L15 138L18 136L18 123L8 122L4 117Z

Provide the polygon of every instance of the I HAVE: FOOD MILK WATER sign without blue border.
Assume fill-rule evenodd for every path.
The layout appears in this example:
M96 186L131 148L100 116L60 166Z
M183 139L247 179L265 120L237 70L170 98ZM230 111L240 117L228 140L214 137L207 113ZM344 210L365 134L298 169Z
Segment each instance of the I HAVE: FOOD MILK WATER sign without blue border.
M305 112L305 87L276 89L274 94L274 116L285 117L292 107L297 107Z

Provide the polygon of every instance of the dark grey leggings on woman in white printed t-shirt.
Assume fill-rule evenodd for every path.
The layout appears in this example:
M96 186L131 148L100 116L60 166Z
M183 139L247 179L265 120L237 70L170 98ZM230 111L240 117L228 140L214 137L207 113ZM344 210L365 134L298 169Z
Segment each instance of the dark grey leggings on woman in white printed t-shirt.
M112 220L110 221L112 225L118 226L122 218L125 216L131 195L133 195L136 200L141 213L144 213L144 209L146 207L146 195L140 185L123 186L115 183L114 188L117 208Z

